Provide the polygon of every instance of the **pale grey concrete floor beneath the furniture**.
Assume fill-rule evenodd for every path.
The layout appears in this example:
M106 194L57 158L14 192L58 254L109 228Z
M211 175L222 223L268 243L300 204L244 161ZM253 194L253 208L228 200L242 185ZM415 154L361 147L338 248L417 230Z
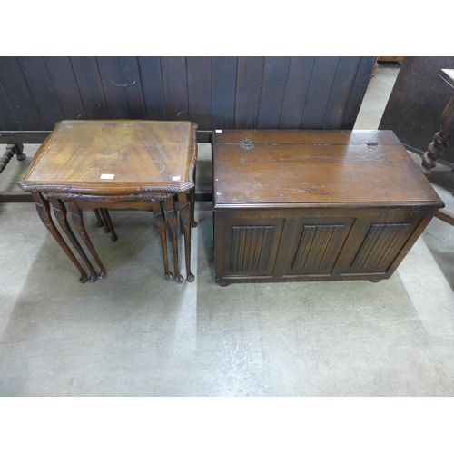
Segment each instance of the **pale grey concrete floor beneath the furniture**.
M356 129L378 127L398 71L380 66ZM201 145L201 156L209 153ZM0 190L13 189L30 161L13 160ZM439 168L430 182L454 211L454 175ZM197 203L196 280L183 285L163 277L149 213L112 212L119 241L110 242L87 212L108 276L82 285L33 203L0 204L0 395L454 395L452 227L430 222L378 284L221 288L211 208Z

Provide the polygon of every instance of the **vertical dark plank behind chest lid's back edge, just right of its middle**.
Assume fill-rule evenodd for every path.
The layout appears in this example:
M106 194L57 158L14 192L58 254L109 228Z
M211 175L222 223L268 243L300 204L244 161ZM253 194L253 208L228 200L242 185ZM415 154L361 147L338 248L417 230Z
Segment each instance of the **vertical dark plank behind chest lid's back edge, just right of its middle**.
M338 63L339 57L315 58L308 97L302 113L301 129L322 129Z

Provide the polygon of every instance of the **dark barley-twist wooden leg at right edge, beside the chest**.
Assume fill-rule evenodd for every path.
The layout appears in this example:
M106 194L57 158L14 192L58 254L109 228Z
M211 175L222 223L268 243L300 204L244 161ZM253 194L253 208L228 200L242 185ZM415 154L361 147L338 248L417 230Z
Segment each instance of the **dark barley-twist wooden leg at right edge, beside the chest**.
M433 136L433 141L429 143L426 153L422 155L420 168L427 177L430 171L437 165L436 161L441 156L443 150L448 146L451 138L451 131L454 127L454 96L449 97L449 101L441 114L441 129Z

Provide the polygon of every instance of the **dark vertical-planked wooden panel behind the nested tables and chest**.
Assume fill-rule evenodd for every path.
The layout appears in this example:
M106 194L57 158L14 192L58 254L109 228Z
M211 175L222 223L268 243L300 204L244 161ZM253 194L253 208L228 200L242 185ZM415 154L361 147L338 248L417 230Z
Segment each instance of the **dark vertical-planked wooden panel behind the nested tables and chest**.
M0 57L0 143L39 143L44 134L34 132L62 119L191 120L199 131L352 129L375 60Z

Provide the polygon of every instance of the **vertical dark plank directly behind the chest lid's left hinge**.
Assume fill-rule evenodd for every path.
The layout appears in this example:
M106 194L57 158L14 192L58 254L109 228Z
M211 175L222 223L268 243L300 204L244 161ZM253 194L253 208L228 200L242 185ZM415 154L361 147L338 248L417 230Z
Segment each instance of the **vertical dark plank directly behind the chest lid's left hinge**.
M235 128L257 127L262 91L262 57L238 57Z

